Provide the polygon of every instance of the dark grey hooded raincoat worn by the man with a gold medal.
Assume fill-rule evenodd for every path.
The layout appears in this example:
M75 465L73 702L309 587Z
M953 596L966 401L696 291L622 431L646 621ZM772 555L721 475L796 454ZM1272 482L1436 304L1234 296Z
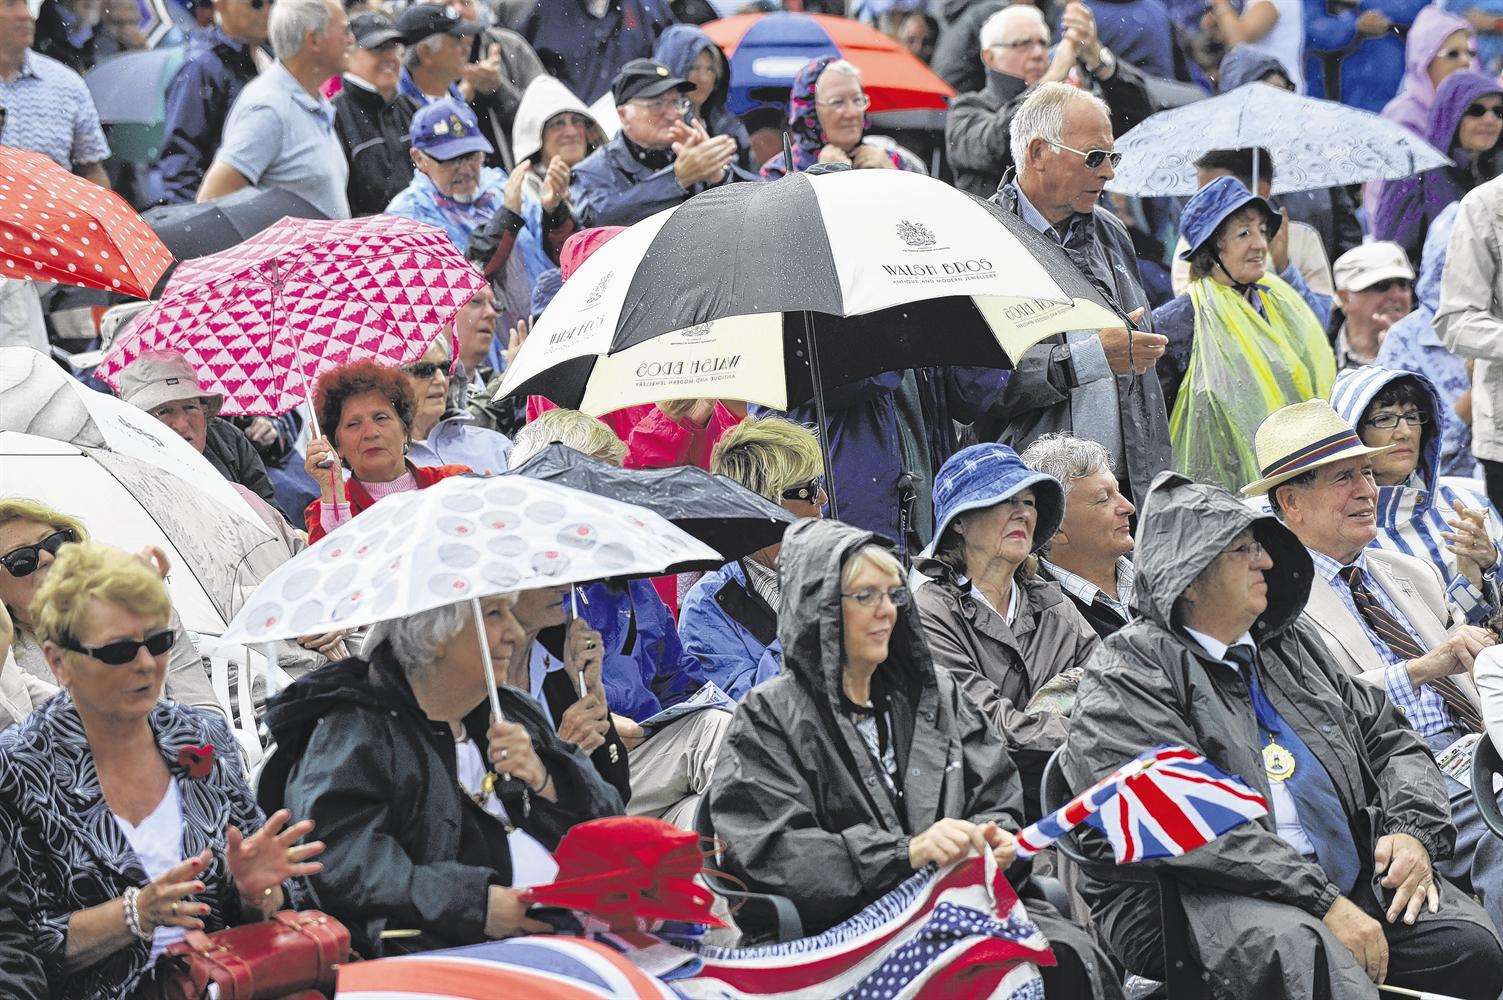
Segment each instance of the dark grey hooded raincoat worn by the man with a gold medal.
M1081 681L1066 741L1070 786L1085 788L1142 750L1174 743L1204 753L1269 797L1246 681L1213 660L1172 611L1196 574L1247 528L1273 558L1266 574L1269 608L1252 627L1269 699L1330 773L1357 856L1371 859L1380 836L1408 833L1431 860L1446 859L1455 830L1425 744L1381 690L1330 663L1320 635L1299 621L1312 579L1309 553L1273 516L1172 472L1154 481L1139 514L1135 606L1141 617L1102 642ZM1094 842L1106 851L1103 841ZM1272 814L1183 857L1142 865L1165 865L1180 880L1190 950L1210 973L1214 995L1308 1000L1323 995L1323 988L1332 997L1375 995L1354 962L1327 965L1321 940L1341 947L1335 938L1300 937L1297 923L1282 916L1294 907L1320 920L1338 890L1320 865L1276 833ZM1368 862L1359 881L1371 875ZM1440 914L1422 911L1422 923L1471 919L1486 926L1476 904L1464 904L1459 890L1438 881ZM1162 977L1157 890L1085 878L1081 892L1127 968ZM1287 953L1270 953L1296 938ZM1327 985L1320 986L1317 976Z

